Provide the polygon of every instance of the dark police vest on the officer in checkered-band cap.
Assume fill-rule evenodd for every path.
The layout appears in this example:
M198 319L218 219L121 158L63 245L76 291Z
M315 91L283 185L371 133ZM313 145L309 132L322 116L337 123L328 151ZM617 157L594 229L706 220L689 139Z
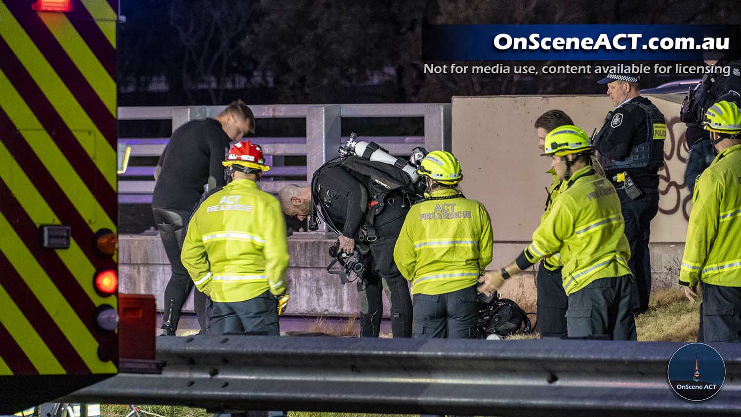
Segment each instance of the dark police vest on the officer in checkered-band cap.
M653 104L648 105L645 103L628 103L626 106L638 106L645 112L646 118L646 134L645 141L639 143L631 149L628 158L625 161L617 161L608 159L605 156L599 156L599 164L602 165L606 171L611 170L625 170L633 168L651 168L658 169L664 166L664 140L666 139L666 121L664 115L659 109ZM594 143L597 143L602 139L605 131L608 130L611 113L608 115L608 120L599 130L597 136L594 138Z

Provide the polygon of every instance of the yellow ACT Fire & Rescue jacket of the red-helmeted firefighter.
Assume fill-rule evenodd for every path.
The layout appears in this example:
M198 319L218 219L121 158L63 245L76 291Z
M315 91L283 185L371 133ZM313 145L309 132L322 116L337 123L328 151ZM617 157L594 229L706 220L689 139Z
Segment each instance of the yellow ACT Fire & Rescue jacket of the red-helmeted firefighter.
M288 258L278 200L248 179L235 179L203 201L181 256L196 287L218 302L284 293Z

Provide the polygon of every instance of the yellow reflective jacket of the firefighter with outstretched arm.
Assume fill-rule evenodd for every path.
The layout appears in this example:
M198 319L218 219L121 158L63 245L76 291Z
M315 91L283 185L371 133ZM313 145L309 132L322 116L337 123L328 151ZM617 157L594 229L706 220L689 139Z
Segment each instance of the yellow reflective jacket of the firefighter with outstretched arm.
M532 263L555 253L561 254L566 294L599 278L631 273L631 249L617 192L591 167L576 170L569 181L562 182L558 199L525 249Z

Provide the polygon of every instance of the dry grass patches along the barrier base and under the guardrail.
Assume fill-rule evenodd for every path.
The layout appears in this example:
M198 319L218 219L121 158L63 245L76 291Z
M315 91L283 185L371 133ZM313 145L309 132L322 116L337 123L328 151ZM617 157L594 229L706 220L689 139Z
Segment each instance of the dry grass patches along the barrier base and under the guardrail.
M667 288L651 295L650 309L638 316L636 327L639 341L696 341L699 324L700 303L691 304L685 298L681 288ZM326 333L331 336L357 336L357 323L350 318L345 324L331 324L325 318L318 318L308 331ZM381 337L391 337L382 333ZM508 338L539 338L537 334L517 335ZM492 342L496 343L496 342ZM125 405L102 405L101 417L125 417L129 412ZM140 407L142 417L210 417L210 413L199 408L176 407L167 405L147 405ZM308 411L291 411L289 417L408 417L393 414L361 413L316 413Z

